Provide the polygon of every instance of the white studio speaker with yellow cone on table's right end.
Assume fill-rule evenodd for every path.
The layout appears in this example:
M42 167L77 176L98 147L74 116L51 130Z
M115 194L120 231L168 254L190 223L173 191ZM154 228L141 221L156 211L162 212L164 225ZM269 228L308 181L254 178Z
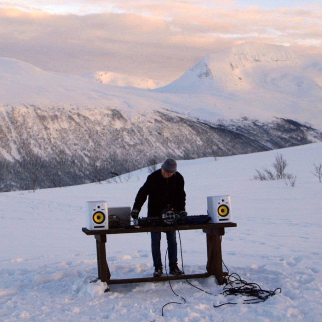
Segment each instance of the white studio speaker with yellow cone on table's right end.
M230 196L207 197L207 212L211 218L210 223L232 222L232 206Z

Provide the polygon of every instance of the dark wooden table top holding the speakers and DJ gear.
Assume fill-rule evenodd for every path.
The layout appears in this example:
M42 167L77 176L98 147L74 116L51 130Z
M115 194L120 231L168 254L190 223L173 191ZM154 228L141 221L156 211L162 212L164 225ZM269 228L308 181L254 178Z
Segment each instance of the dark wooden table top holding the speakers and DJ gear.
M126 234L135 232L169 232L173 230L194 230L194 229L215 229L237 227L236 223L203 223L203 224L184 224L168 226L147 226L137 227L129 226L128 228L110 228L107 230L88 230L86 227L82 231L86 235L109 235L109 234Z

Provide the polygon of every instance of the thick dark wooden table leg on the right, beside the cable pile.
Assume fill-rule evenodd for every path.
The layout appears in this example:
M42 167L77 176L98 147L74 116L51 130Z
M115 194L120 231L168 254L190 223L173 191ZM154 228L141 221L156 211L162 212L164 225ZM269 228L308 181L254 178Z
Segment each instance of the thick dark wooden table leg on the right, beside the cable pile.
M221 236L224 235L224 228L204 229L207 234L207 272L213 274L218 283L224 283Z

